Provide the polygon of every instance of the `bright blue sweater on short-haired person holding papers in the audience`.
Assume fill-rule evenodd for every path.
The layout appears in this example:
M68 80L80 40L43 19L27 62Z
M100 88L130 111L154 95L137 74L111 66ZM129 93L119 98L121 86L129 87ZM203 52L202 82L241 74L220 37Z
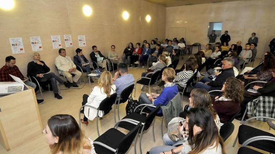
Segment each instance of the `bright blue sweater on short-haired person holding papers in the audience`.
M176 95L178 94L178 86L174 83L165 84L163 91L160 93L160 95L153 101L153 105L158 106L161 104L162 106L165 106L169 103L170 100L172 100ZM162 110L158 110L158 114L162 113Z

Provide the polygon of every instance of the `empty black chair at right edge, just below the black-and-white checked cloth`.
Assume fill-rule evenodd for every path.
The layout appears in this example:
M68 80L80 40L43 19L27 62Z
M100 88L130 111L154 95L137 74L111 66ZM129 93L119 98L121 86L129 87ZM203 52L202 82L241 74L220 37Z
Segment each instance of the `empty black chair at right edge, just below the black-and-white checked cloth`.
M257 136L269 136L269 137L273 137L275 138L274 134L272 133L268 133L265 132L263 130L245 125L248 121L252 120L252 119L256 119L256 118L266 118L266 119L272 119L275 120L274 118L269 118L269 117L262 117L262 116L258 116L258 117L252 117L249 118L247 120L245 120L240 126L239 126L239 131L238 134L236 136L236 139L233 143L233 147L235 146L237 139L239 139L239 144L244 144L246 140L250 139L254 139L253 137L257 137ZM251 142L249 144L247 144L248 146L251 147L255 147L257 149L261 149L261 150L265 150L271 153L275 153L275 142L274 141L254 141Z

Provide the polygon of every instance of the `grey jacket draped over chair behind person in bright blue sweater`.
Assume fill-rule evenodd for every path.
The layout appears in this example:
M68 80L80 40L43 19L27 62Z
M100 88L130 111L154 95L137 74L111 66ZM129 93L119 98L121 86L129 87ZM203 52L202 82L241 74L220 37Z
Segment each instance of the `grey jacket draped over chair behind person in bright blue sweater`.
M178 93L169 103L165 106L161 106L161 110L165 119L166 127L171 119L178 117L183 112L183 105L181 95Z

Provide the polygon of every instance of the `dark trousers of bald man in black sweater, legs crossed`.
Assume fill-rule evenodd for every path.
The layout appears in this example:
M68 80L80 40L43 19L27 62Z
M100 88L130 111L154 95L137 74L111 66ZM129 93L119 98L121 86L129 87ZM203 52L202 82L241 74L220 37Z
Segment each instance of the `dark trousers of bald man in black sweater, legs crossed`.
M58 87L56 84L56 81L59 83L64 83L64 80L62 80L60 77L56 76L53 72L50 72L48 74L44 74L43 77L37 77L38 82L46 82L51 81L52 87L53 87L53 93L58 93Z

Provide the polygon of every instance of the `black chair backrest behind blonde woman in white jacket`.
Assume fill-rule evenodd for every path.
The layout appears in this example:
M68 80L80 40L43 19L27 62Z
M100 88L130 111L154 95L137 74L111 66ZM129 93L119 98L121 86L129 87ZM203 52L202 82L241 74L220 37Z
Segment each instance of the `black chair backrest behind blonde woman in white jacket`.
M115 104L117 99L117 93L113 93L109 97L106 97L99 105L99 110L104 112L104 115L108 114L112 110L113 104Z

